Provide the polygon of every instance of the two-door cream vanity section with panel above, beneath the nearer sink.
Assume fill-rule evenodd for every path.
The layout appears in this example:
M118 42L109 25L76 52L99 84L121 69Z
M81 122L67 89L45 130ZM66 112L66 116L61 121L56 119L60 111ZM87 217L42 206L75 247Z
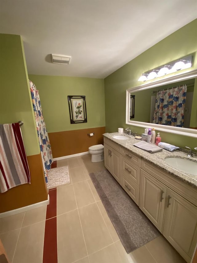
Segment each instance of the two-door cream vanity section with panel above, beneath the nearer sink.
M197 243L196 203L193 187L142 160L139 208L187 262Z

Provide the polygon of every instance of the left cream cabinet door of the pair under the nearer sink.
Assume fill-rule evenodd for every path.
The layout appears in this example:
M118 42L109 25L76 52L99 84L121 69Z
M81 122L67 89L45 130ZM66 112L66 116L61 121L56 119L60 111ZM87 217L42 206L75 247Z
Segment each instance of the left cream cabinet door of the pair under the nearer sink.
M141 170L139 207L162 232L167 187Z

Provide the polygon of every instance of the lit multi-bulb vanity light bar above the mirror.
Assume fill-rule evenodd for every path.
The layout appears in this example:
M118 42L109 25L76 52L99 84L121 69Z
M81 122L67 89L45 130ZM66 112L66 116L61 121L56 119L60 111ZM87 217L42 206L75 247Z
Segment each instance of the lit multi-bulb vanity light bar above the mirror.
M165 65L162 65L158 68L154 68L152 70L149 70L142 74L142 76L139 77L138 81L146 81L146 80L152 80L157 77L165 76L167 74L186 69L191 68L191 60L192 56L183 57L181 59L175 60L173 62L167 63Z

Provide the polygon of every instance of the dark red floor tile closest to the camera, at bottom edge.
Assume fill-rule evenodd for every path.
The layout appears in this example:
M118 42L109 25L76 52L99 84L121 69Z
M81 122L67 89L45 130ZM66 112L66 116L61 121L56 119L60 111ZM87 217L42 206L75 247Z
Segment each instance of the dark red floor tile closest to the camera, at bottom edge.
M58 263L57 217L45 221L43 263Z

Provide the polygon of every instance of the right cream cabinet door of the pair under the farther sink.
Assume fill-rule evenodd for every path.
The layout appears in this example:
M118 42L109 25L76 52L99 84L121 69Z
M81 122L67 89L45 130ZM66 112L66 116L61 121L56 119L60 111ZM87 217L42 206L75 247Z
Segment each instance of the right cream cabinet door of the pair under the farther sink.
M121 184L121 154L111 149L111 174Z

